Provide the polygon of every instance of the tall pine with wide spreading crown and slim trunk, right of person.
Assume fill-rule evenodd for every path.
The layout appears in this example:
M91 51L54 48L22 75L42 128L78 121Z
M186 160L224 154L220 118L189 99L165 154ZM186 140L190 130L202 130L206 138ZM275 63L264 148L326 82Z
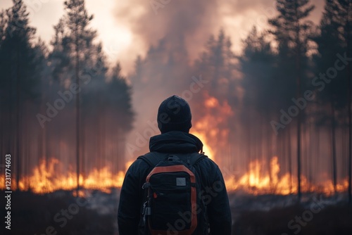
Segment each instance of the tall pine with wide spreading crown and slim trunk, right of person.
M277 0L279 15L269 20L274 30L270 32L275 36L278 44L278 68L280 77L287 87L296 87L296 99L301 97L302 85L306 80L306 67L308 57L308 42L313 33L313 23L306 20L314 6L309 0ZM295 66L292 66L295 65ZM294 86L296 84L296 86ZM287 89L290 91L292 89ZM285 91L286 92L286 91ZM286 93L287 101L294 97L292 92ZM298 175L298 201L301 201L301 122L302 111L297 117L297 175Z

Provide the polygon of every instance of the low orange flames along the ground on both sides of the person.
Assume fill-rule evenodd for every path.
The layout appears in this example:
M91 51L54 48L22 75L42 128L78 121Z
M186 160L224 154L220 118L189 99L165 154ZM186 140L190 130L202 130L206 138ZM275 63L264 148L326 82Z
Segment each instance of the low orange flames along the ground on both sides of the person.
M19 187L13 184L13 189L21 191L31 190L34 193L50 193L57 190L74 190L77 187L77 174L70 172L68 174L57 175L55 168L61 163L56 158L51 158L46 166L46 161L35 167L32 175L20 179ZM126 169L132 164L132 161L126 163ZM279 163L275 156L270 161L270 172L264 172L265 162L254 160L249 164L249 171L243 174L239 179L234 175L226 177L225 184L228 191L244 191L253 195L274 193L279 195L288 195L297 192L297 181L289 173L279 177ZM109 167L103 167L101 170L94 169L87 177L80 174L80 186L82 189L99 189L110 193L112 188L120 188L125 171L112 174ZM302 191L320 192L326 195L334 193L334 185L328 180L323 184L310 184L306 177L301 177ZM15 182L13 182L15 183ZM0 177L1 189L4 189L5 177ZM348 188L348 181L345 179L341 184L337 184L337 192L341 193Z

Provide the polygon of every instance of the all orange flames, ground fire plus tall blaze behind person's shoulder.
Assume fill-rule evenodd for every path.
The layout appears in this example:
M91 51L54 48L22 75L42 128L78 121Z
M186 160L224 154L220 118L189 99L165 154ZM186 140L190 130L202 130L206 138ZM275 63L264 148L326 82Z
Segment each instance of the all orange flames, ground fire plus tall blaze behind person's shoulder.
M209 158L213 158L218 154L219 150L225 148L228 144L229 130L221 128L222 123L229 123L229 118L234 112L227 101L220 102L215 97L204 93L204 103L202 116L194 124L191 129L192 134L196 135L203 141L203 151ZM216 115L218 114L218 115ZM221 159L217 159L217 163ZM112 188L120 188L125 172L132 164L129 161L125 165L125 170L121 170L113 174L111 167L106 166L101 169L94 168L86 175L80 174L79 183L82 189L99 189L100 191L110 192ZM221 166L221 164L220 164ZM249 163L249 170L241 177L230 172L225 175L225 184L228 191L244 191L254 195L275 193L280 195L288 195L297 193L296 177L289 173L280 174L279 158L274 156L270 160L270 170L266 170L265 161L253 160ZM31 190L34 193L49 193L57 190L74 190L77 188L77 174L70 170L66 174L58 174L61 172L57 169L65 169L63 163L56 158L51 158L48 163L45 160L34 168L32 174L20 179L18 185L12 182L11 189L20 189L22 191ZM335 192L334 185L331 180L327 180L322 184L312 184L308 179L301 176L301 188L303 192L320 192L332 195ZM344 179L337 184L336 192L344 192L348 188L348 181ZM5 176L0 176L0 189L5 189ZM80 192L79 192L80 193Z

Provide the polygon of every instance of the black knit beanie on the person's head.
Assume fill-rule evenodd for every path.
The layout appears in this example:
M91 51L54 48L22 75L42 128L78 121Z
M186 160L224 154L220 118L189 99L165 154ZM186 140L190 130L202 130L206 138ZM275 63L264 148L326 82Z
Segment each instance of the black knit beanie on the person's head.
M158 127L161 133L170 131L189 132L191 125L191 108L180 96L170 96L158 109Z

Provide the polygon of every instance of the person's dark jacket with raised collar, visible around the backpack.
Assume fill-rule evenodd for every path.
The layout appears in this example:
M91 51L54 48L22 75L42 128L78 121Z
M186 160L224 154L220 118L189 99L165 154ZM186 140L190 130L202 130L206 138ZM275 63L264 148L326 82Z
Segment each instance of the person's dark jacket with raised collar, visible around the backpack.
M153 136L149 149L159 153L195 153L201 151L203 144L194 135L185 132L166 132ZM224 179L218 165L209 158L203 158L194 165L201 177L202 196L207 205L210 233L213 235L231 234L231 211ZM118 208L118 227L120 235L137 235L144 203L142 185L152 170L144 160L137 159L127 170L120 193ZM199 228L194 234L201 234Z

